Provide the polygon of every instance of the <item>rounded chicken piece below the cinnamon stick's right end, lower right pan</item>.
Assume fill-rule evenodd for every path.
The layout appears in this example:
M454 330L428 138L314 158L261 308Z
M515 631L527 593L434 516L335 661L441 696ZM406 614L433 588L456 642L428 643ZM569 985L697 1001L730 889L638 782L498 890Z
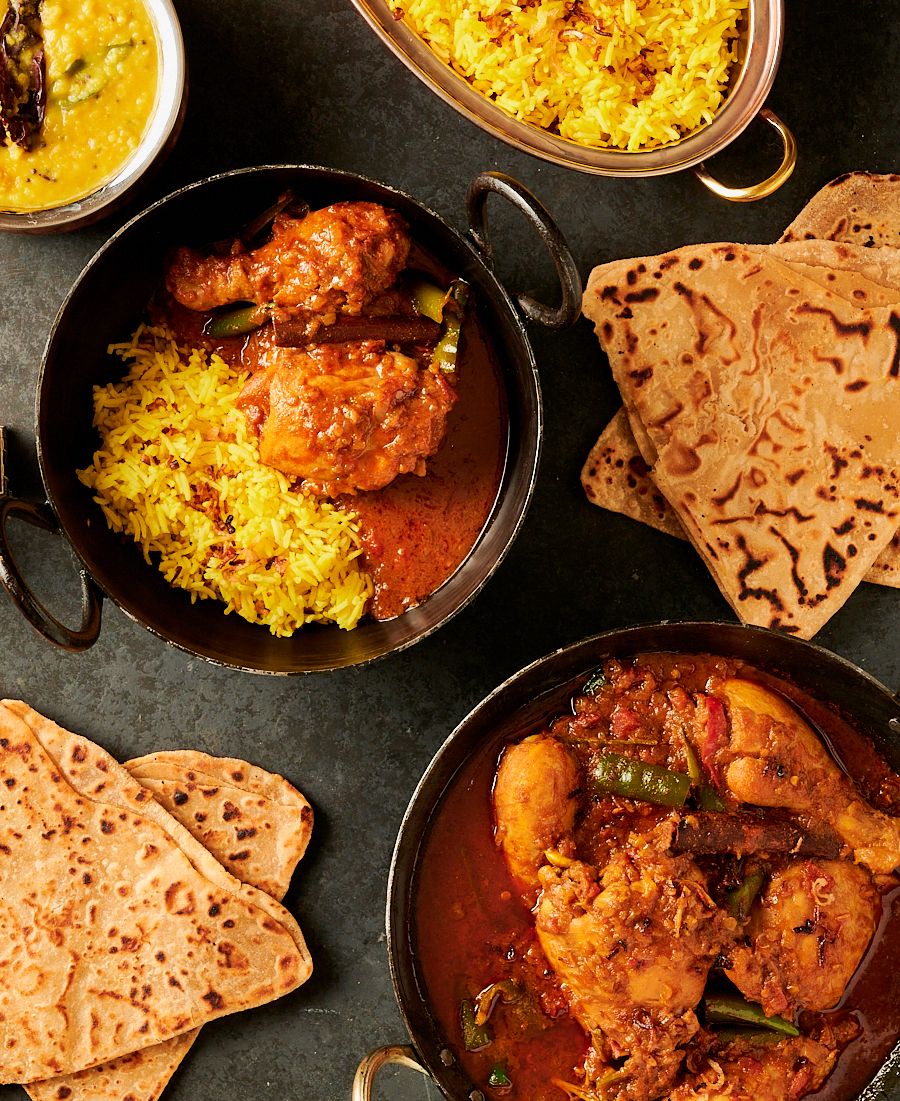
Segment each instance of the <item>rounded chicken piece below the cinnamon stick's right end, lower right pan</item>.
M875 934L871 875L843 860L791 861L772 875L730 955L728 978L767 1015L836 1005Z

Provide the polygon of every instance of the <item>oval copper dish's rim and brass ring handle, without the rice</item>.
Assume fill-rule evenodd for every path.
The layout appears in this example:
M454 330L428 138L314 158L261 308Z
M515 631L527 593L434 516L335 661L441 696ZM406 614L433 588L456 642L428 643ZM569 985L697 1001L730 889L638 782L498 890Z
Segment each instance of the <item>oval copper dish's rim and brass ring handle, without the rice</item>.
M728 96L713 121L680 142L643 152L579 145L549 130L522 122L471 87L398 20L388 0L353 0L378 37L445 103L507 144L545 161L604 176L658 176L698 165L734 141L760 113L778 72L784 37L782 0L751 0L740 33L740 59ZM784 161L769 179L746 188L723 188L705 173L701 178L726 198L748 200L771 194L791 174L796 159L793 138L771 112L766 120L784 142ZM738 194L739 193L739 194Z

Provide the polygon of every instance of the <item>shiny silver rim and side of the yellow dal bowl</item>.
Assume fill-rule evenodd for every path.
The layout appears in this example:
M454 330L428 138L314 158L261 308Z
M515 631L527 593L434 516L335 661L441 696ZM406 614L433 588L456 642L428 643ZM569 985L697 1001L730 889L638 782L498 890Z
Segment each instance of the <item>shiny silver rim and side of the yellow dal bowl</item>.
M172 0L143 2L156 35L159 76L156 101L138 149L111 179L84 198L43 210L0 208L0 231L61 233L98 221L119 209L149 183L172 151L181 132L187 102L184 41Z

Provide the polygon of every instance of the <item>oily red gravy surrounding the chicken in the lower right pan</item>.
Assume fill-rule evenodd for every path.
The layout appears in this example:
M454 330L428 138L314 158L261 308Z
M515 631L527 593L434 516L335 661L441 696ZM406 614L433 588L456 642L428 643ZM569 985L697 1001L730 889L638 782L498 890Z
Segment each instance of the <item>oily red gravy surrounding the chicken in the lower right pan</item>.
M687 662L682 684L702 690L711 659L653 655ZM638 658L640 661L640 658ZM841 760L853 763L854 778L879 809L900 813L900 777L885 764L871 742L831 707L791 683L738 659L712 659L727 675L774 688L817 724ZM574 700L581 695L575 686ZM527 722L509 741L545 729ZM507 726L507 729L509 727ZM520 1101L565 1101L571 1097L553 1079L578 1082L574 1068L588 1050L582 1027L567 1015L555 975L536 940L533 916L519 896L506 860L494 840L491 792L507 741L485 744L456 774L432 815L413 881L413 953L432 1013L471 1082L485 1097ZM848 1013L860 1026L823 1088L806 1094L814 1101L856 1097L885 1062L900 1036L900 889L882 900L881 920L839 1004L828 1013ZM489 1018L488 1047L467 1051L460 1006L491 983L512 979L539 995L542 1012L517 1020L516 1006L498 1001ZM802 1023L802 1018L801 1018ZM522 1033L525 1038L522 1038ZM491 1071L502 1066L511 1086L492 1088Z

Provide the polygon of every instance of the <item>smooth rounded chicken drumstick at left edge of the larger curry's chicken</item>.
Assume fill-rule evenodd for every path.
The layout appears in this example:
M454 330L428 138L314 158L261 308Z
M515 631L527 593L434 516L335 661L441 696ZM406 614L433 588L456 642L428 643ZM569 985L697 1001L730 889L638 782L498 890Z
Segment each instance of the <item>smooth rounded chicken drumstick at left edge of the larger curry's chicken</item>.
M575 825L578 765L550 734L533 734L503 751L494 785L495 840L510 874L533 905L538 869Z

